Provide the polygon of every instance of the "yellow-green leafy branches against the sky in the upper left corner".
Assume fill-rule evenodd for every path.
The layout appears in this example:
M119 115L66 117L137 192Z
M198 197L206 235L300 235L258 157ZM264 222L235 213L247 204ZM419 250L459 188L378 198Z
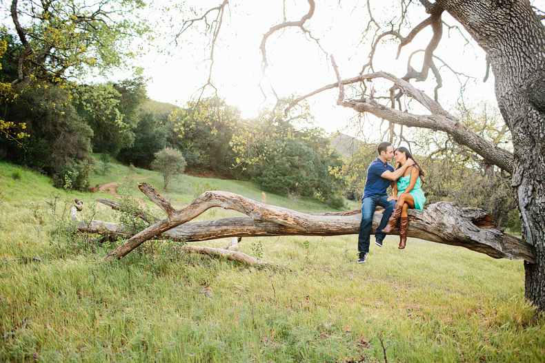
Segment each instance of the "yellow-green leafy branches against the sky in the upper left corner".
M150 31L135 14L144 6L140 0L12 4L13 19L0 30L0 57L6 61L0 70L1 107L44 83L63 87L67 74L83 79L93 71L104 74L127 65L135 57L130 41ZM12 141L26 136L21 126L0 117L0 133Z

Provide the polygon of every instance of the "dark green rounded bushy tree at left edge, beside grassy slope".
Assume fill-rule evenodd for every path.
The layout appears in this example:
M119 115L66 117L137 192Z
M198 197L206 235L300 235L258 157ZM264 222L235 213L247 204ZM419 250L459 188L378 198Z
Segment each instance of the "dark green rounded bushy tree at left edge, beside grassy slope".
M61 87L41 83L17 100L1 104L0 109L6 120L24 125L28 132L17 141L0 139L0 148L8 152L7 160L43 170L58 187L68 171L75 174L75 188L88 187L95 167L86 156L91 150L92 129L81 122Z

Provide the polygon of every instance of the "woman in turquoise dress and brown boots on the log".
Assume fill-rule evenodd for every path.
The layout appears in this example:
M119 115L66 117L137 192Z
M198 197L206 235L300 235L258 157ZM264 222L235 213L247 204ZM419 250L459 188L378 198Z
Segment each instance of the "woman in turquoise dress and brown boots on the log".
M418 165L417 160L413 158L406 147L398 147L394 151L395 161L397 162L396 169L399 169L404 165L408 158L415 161L415 165L406 169L403 176L397 179L397 183L394 185L394 195L390 196L388 200L397 200L395 203L392 216L388 220L386 228L382 231L389 234L395 229L395 224L399 218L399 249L404 249L407 242L407 228L408 228L408 214L407 209L414 208L422 211L426 197L420 189L420 177L424 176L424 170ZM402 191L402 194L397 196L398 191Z

